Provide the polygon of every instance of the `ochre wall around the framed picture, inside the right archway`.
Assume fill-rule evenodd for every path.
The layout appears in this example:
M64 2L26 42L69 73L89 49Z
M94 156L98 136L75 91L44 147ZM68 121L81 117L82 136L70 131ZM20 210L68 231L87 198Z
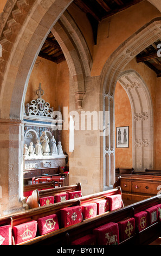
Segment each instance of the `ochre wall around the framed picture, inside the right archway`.
M129 148L115 148L115 167L132 168L132 111L125 89L117 83L114 93L115 142L116 127L129 126Z

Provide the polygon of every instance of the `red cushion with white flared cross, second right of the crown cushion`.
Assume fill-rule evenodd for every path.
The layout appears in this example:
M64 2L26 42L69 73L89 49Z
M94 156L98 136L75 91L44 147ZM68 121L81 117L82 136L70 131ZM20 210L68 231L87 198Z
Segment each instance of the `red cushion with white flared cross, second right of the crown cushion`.
M62 227L68 227L76 223L81 222L81 206L72 206L63 208L61 212L61 225Z

